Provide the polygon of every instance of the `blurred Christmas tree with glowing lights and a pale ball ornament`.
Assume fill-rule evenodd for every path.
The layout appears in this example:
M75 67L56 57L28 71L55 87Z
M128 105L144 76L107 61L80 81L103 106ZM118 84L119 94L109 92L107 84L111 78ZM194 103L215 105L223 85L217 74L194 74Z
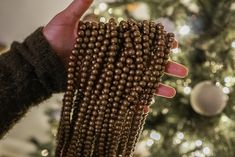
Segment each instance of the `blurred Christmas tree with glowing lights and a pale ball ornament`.
M135 156L235 156L235 2L98 1L85 18L110 17L162 22L179 43L171 59L189 68L185 79L163 77L177 95L155 97ZM32 141L39 148L34 156L53 156L53 143Z

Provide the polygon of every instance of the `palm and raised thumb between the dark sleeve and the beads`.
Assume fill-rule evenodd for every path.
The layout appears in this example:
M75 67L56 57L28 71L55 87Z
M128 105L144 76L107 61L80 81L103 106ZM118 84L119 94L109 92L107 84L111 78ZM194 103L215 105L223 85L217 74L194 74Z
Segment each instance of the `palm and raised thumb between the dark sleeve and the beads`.
M77 23L92 2L93 0L74 0L43 28L43 35L65 65L76 42Z

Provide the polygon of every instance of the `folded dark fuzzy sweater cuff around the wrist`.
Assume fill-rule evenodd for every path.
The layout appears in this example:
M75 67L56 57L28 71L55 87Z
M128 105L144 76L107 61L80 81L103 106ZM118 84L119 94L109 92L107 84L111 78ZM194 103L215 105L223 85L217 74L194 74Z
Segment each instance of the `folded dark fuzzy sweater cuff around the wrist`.
M66 88L67 71L42 33L43 27L26 38L27 54L22 54L34 67L40 82L49 92L62 92Z

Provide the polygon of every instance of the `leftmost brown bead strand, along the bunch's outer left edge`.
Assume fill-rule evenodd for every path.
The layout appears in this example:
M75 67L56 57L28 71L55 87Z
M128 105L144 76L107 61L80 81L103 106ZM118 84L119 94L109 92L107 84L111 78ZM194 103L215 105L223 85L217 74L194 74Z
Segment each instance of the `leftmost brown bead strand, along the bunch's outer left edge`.
M83 24L82 22L79 22L79 25L82 26L82 24ZM83 37L82 33L81 33L81 32L83 32L83 30L84 30L84 27L80 27L79 31L78 31L78 35L81 35L81 37ZM78 41L78 43L74 45L74 50L72 51L72 54L70 56L70 61L69 61L68 70L67 70L68 71L68 76L70 76L70 77L75 75L75 73L76 73L75 68L80 66L80 64L79 64L80 62L78 60L82 59L83 54L80 53L80 51L76 50L76 49L78 47L81 47L81 43L82 43L82 40ZM64 105L63 105L62 111L61 111L61 114L62 114L61 117L62 118L67 117L67 119L66 119L67 122L65 123L67 126L62 127L62 125L63 125L62 123L64 122L64 120L60 120L60 125L59 125L59 129L58 129L58 136L59 137L57 138L57 147L56 147L56 152L55 152L56 157L60 156L61 151L63 149L63 145L65 143L67 143L67 140L68 140L68 136L69 136L68 134L69 134L69 131L70 131L70 126L68 126L68 124L70 124L69 123L70 122L69 116L70 116L70 113L71 113L71 108L72 108L73 101L71 101L71 102L66 101L67 100L66 96L70 95L71 98L74 97L75 90L70 91L69 89L71 89L71 87L68 87L68 86L69 85L74 86L75 83L76 83L75 81L76 81L75 77L68 78L68 80L67 80L67 91L64 94L64 98L63 98L64 99L64 101L63 101ZM65 116L65 114L67 114L67 115ZM71 125L71 126L73 126L73 125ZM61 137L61 136L64 136L64 137Z

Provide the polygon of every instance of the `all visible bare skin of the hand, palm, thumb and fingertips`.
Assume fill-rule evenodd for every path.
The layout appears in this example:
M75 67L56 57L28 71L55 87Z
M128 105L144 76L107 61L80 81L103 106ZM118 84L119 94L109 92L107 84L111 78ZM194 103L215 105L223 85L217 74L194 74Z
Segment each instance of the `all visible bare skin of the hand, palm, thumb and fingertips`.
M77 23L91 5L92 0L74 0L65 10L57 14L44 28L43 34L55 53L67 65L69 55L77 38ZM175 41L172 48L177 48ZM188 69L176 62L169 61L165 73L170 76L184 78ZM157 96L173 98L176 90L170 86L159 84ZM148 109L146 109L146 112Z

